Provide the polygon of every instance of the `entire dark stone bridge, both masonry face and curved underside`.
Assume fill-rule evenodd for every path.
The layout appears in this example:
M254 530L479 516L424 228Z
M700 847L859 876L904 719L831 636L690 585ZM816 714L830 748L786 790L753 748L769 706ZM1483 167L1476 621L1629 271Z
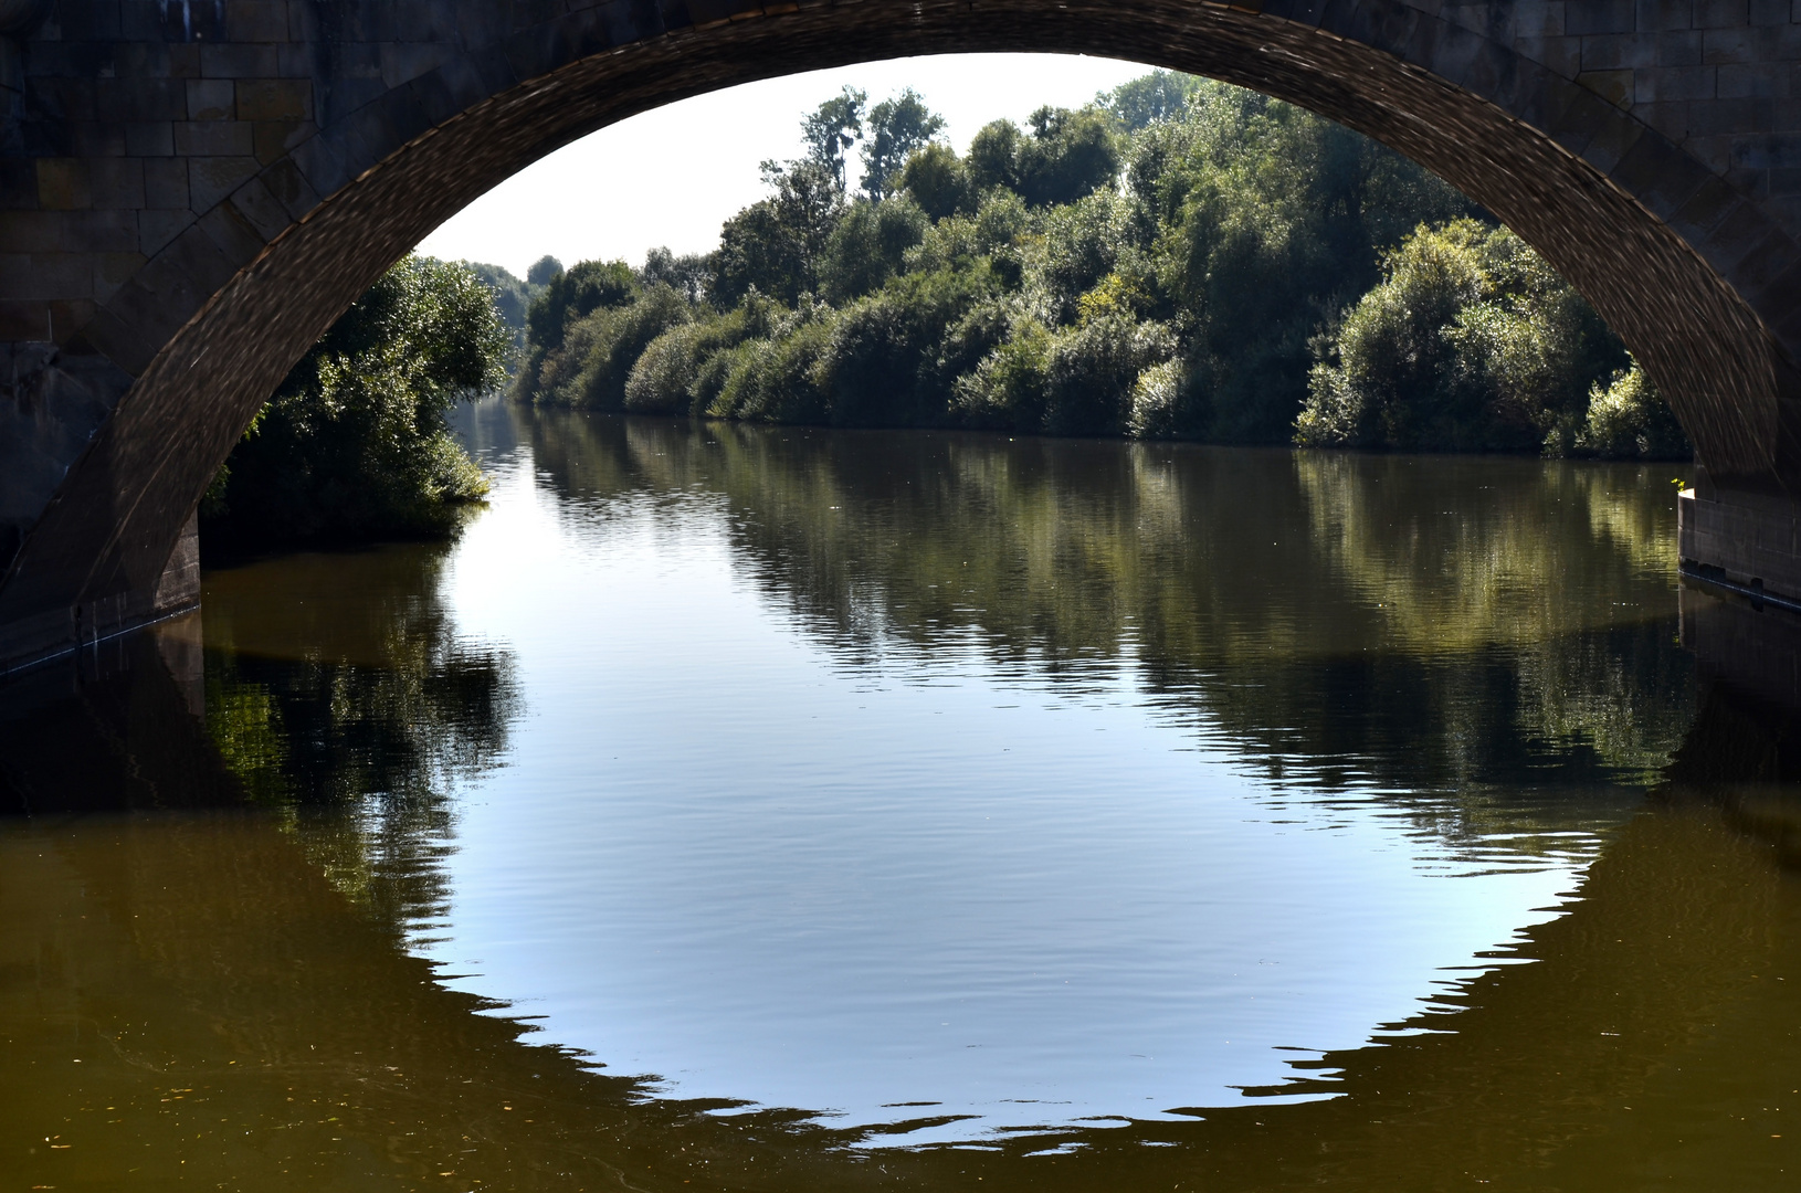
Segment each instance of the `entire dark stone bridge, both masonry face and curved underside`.
M1801 596L1790 0L0 0L0 671L193 603L184 527L254 410L493 184L706 90L958 50L1207 74L1437 171L1670 394L1684 554Z

